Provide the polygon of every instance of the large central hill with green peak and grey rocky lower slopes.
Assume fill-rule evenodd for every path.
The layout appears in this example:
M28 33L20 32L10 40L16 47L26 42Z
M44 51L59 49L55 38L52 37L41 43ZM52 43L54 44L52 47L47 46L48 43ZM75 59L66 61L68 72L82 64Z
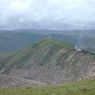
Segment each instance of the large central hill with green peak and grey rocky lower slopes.
M53 38L1 57L0 73L46 83L95 77L95 55Z

